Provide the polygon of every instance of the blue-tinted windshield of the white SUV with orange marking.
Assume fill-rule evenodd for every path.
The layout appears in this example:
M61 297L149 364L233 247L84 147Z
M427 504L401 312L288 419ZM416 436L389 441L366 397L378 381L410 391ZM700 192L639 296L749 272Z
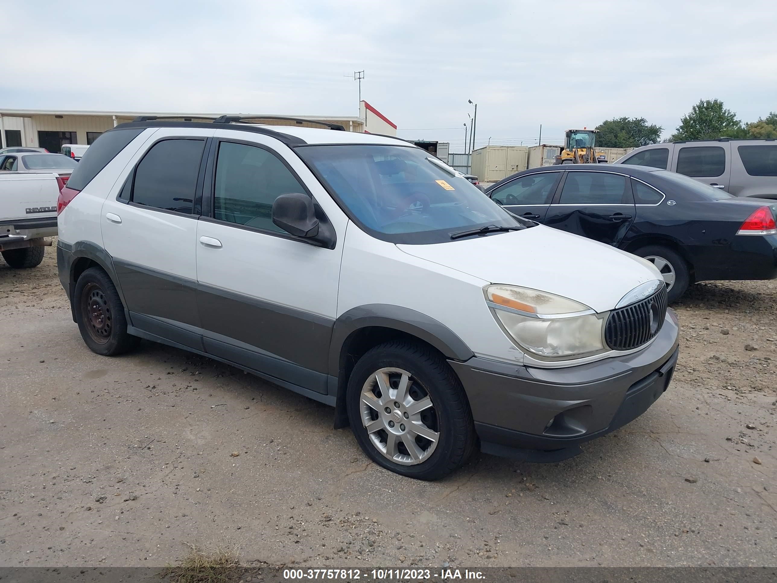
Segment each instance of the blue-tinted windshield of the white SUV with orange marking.
M524 227L455 170L420 148L317 145L295 148L350 218L392 243L441 243L487 225ZM455 174L453 174L455 173Z

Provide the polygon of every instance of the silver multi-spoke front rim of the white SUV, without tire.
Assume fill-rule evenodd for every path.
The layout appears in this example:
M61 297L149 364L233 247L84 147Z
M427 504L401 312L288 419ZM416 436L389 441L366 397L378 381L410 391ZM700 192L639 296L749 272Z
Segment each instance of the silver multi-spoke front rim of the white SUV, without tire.
M361 423L375 448L415 466L432 455L440 425L429 393L402 368L381 368L361 388Z

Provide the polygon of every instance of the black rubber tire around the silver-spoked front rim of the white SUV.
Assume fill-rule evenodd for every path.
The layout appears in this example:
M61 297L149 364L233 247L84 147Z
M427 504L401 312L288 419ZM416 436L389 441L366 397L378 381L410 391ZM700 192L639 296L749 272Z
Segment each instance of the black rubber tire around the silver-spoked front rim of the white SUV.
M386 457L373 444L364 428L361 391L368 379L382 368L400 368L409 372L413 379L408 388L411 398L415 398L413 391L418 395L425 393L433 403L433 407L424 414L434 415L439 438L427 459L416 465L395 463ZM396 340L372 348L356 363L348 379L346 398L350 427L361 449L379 466L402 476L439 480L466 463L476 449L472 411L462 383L441 354L423 344ZM408 451L404 442L401 447Z

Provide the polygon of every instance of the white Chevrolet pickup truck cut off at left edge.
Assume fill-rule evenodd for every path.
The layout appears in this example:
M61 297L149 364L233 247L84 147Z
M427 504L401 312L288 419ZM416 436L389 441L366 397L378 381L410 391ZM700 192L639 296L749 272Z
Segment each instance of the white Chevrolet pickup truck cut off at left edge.
M0 253L9 267L36 267L57 235L55 174L0 173Z

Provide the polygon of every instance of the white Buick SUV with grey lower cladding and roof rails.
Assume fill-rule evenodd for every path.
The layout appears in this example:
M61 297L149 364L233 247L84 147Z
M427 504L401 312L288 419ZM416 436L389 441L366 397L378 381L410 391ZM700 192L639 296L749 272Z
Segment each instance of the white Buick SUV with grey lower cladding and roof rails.
M336 407L375 463L576 455L669 385L652 264L517 218L397 138L143 118L58 201L57 261L97 354L140 338Z

